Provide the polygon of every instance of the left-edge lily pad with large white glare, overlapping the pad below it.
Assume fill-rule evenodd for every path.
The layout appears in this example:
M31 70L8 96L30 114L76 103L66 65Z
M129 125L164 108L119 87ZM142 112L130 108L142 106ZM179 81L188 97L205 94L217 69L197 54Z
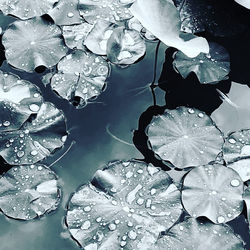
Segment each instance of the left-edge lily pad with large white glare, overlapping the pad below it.
M43 98L38 87L11 73L0 71L0 133L19 129L36 114Z

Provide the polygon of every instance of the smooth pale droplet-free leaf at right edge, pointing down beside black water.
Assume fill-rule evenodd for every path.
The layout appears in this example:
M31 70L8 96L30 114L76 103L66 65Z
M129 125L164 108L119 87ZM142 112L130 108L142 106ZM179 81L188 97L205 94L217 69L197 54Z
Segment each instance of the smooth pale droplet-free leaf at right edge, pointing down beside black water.
M232 82L228 95L221 96L223 104L212 113L212 119L225 133L248 129L250 124L250 89L247 85Z

